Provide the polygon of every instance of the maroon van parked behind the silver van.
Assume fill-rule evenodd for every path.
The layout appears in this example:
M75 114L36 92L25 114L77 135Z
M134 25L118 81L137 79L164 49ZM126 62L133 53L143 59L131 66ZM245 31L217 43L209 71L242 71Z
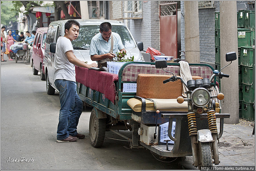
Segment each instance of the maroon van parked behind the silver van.
M41 27L36 30L36 35L33 43L32 56L31 56L31 65L32 65L33 75L37 75L38 71L40 71L41 80L45 80L44 54L45 54L45 40L46 40L47 30L48 30L48 27Z

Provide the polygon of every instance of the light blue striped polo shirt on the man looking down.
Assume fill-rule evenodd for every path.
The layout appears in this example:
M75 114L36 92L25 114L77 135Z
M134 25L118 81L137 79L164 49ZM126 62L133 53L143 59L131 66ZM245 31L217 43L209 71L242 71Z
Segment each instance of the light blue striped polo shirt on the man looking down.
M119 34L112 32L113 35L113 53L118 52L118 49L121 50L124 48L121 37ZM90 45L90 55L103 55L109 53L111 49L111 36L108 40L104 40L101 36L101 33L96 34L92 37Z

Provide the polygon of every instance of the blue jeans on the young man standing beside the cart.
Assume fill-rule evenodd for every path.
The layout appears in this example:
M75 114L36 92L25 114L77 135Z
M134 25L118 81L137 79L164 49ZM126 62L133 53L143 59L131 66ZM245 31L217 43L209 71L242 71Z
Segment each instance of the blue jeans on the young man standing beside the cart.
M83 102L77 94L77 84L73 81L57 79L54 82L59 90L61 109L57 139L62 140L77 135L77 125L83 110Z

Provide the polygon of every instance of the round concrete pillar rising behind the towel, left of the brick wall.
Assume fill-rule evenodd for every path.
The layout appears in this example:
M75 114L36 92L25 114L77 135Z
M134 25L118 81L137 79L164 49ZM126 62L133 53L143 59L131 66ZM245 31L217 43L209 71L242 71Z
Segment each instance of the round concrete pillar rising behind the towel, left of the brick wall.
M200 63L198 1L184 1L185 54L189 63Z

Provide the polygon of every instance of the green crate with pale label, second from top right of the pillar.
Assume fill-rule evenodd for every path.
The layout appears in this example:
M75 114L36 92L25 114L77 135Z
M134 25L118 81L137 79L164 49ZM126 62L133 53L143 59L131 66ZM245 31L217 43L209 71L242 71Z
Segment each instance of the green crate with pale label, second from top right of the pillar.
M251 45L251 30L246 28L237 29L238 47Z

